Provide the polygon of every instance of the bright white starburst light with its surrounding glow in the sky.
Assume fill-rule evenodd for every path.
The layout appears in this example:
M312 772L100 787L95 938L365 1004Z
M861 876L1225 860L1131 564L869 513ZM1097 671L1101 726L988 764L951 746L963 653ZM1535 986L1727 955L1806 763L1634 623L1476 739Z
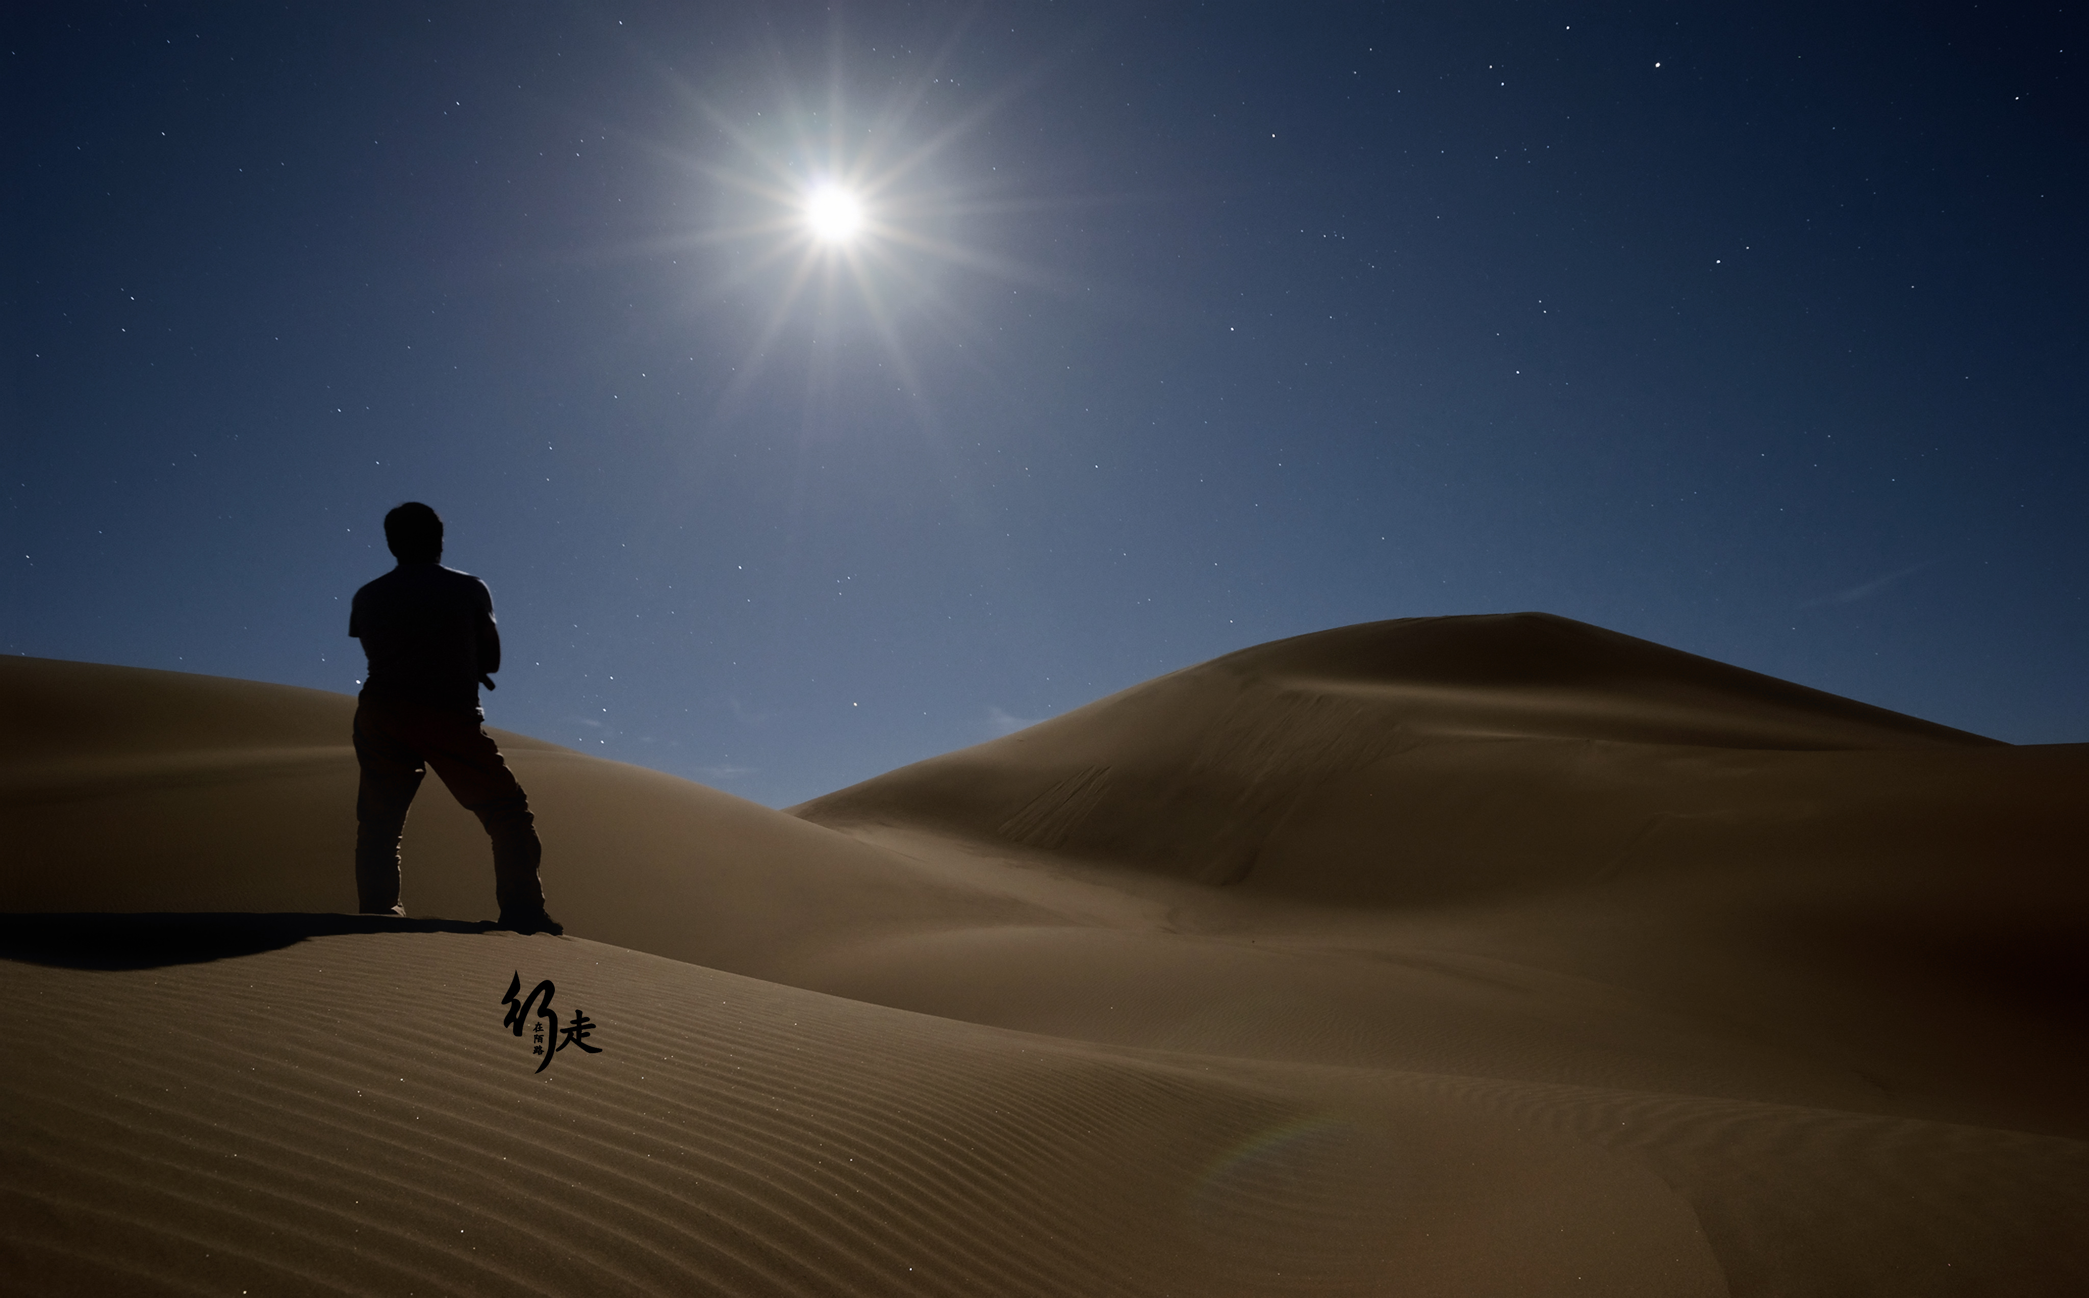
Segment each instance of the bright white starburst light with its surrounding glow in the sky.
M846 102L840 81L819 102L779 77L773 102L731 111L689 88L708 129L689 146L656 148L702 184L710 211L648 248L706 248L698 309L735 313L744 326L746 351L721 386L721 413L740 411L777 361L798 363L804 342L808 392L821 401L877 348L877 382L890 378L932 424L917 355L969 346L963 359L973 361L984 351L965 286L984 278L1065 288L1047 269L976 242L994 217L1063 205L1019 194L1003 169L980 165L992 144L984 123L1015 90L944 100L940 88L940 77L921 75L865 111Z

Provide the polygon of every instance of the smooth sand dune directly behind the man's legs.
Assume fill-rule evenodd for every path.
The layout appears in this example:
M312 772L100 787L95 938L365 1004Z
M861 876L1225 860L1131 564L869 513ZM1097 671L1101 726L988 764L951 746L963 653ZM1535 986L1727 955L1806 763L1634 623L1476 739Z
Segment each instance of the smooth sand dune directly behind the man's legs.
M355 843L355 699L19 657L0 659L0 797L23 845L0 910L355 908L343 868ZM836 929L1044 914L729 793L495 737L531 791L545 885L577 933L742 968ZM414 914L493 916L485 831L432 776L403 854Z

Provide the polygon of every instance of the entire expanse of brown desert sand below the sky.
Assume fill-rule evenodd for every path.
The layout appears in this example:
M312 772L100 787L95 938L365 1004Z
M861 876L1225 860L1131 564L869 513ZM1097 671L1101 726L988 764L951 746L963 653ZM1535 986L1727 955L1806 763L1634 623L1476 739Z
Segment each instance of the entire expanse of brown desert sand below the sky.
M0 659L10 1294L2083 1294L2089 745L1542 614L1187 668L773 812ZM600 1054L543 1071L501 993Z

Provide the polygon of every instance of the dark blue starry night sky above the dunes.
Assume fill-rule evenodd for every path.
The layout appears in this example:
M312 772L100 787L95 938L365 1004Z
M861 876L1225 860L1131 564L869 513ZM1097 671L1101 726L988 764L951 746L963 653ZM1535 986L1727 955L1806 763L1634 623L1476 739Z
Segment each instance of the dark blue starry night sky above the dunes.
M771 806L1431 614L2083 741L2081 38L13 4L0 651L353 693L418 499L489 724Z

